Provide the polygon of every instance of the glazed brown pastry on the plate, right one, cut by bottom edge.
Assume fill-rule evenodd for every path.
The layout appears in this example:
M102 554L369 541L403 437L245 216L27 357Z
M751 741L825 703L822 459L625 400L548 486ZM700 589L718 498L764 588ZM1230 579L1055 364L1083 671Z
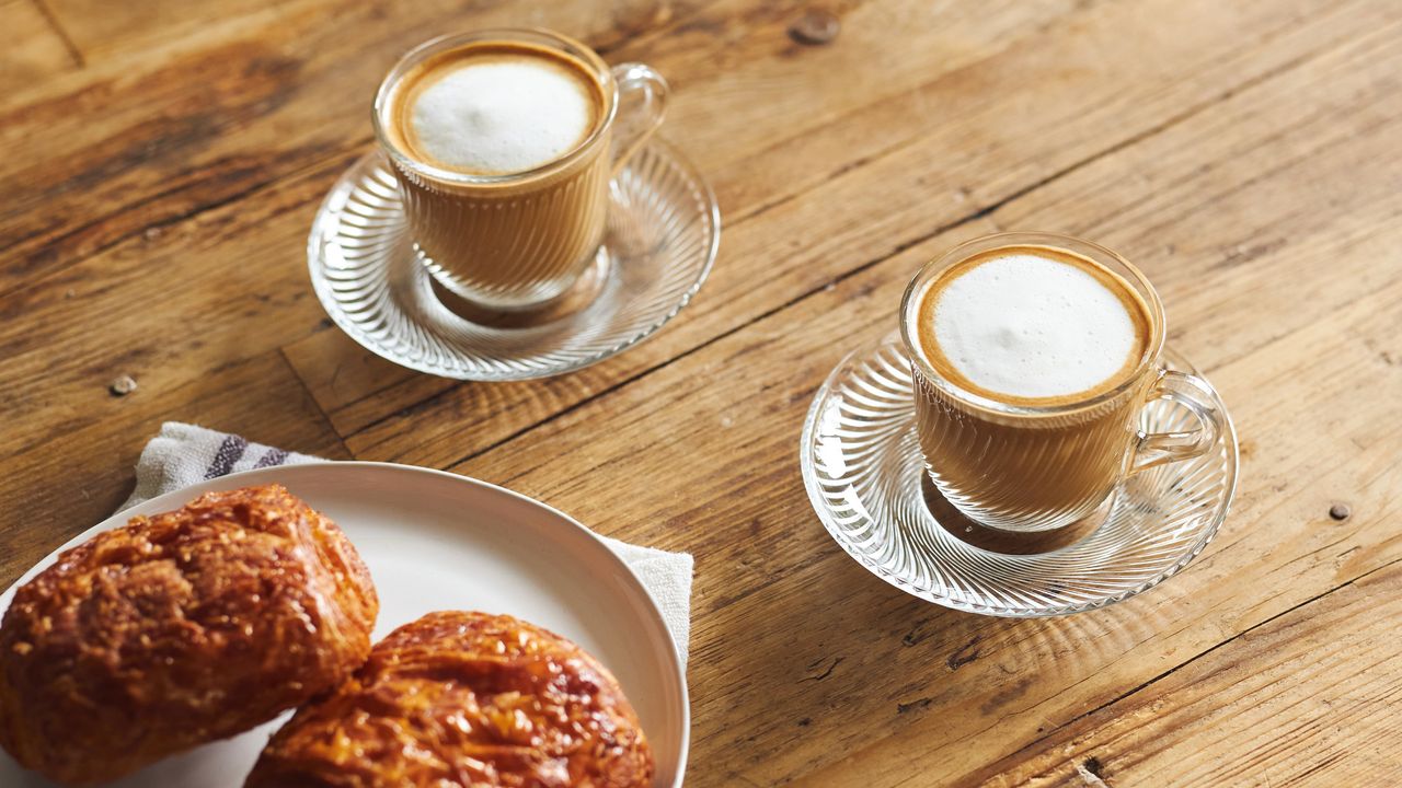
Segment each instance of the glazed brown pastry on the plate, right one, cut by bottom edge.
M509 616L430 613L279 731L245 788L642 788L648 740L617 680Z

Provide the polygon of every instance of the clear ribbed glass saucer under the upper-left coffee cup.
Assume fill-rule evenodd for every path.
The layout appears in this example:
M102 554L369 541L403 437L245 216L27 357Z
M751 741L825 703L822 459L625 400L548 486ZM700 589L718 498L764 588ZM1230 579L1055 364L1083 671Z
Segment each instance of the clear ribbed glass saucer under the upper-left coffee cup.
M676 317L711 272L721 212L695 170L651 142L614 181L604 248L582 279L596 292L573 311L517 327L449 308L405 230L400 188L373 151L327 195L307 241L311 283L331 320L409 369L523 380L607 359Z

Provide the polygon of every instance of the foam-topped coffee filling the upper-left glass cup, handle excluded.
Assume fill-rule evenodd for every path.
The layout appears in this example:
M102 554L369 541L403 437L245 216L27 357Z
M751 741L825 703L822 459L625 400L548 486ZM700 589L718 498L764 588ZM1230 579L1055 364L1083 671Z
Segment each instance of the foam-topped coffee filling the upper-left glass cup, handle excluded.
M603 240L614 88L597 56L572 46L440 45L381 87L377 126L414 244L474 304L547 303Z

